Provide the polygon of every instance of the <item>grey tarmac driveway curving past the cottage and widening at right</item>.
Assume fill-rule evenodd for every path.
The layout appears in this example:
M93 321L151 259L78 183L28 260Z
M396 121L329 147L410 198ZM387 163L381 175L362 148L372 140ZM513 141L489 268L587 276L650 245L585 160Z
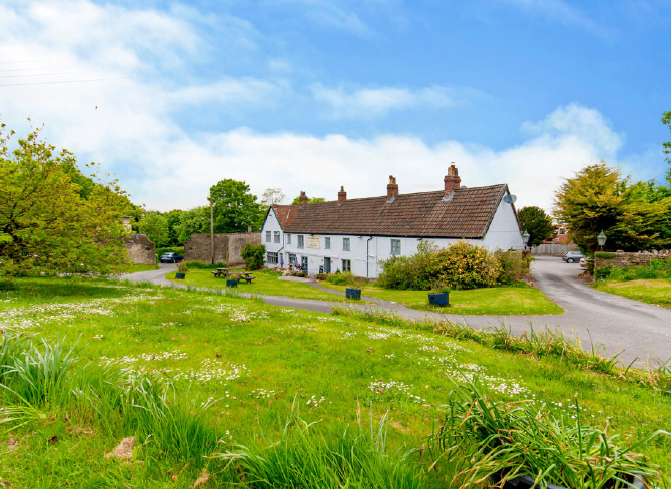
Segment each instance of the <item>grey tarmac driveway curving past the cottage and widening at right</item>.
M159 270L136 272L124 275L133 281L148 281L156 285L179 287L165 279L170 271L177 269L172 263L162 263ZM641 367L646 361L666 361L671 358L671 310L625 299L591 289L578 275L582 268L577 263L564 263L559 257L536 257L532 276L552 302L566 311L551 316L456 316L408 309L400 304L385 302L371 297L362 297L375 306L359 305L361 309L383 307L396 311L409 319L447 319L469 324L475 328L505 325L513 333L521 334L533 325L537 331L546 327L559 327L565 334L575 332L581 338L582 347L592 346L601 353L612 356L620 352L619 359L628 365L636 362ZM313 287L330 293L342 294L330 289ZM288 297L263 297L266 304L328 313L331 304L323 301L291 299ZM653 365L655 365L653 363Z

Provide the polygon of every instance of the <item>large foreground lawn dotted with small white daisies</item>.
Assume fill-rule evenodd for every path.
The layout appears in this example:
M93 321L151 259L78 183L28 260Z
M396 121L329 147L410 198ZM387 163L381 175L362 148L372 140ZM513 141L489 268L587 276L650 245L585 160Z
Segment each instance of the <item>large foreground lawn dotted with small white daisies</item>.
M190 271L191 280L201 276L204 282L193 285L211 286L205 274L209 271ZM264 288L262 279L256 291L287 295L284 285ZM286 285L300 291L302 284ZM315 298L316 291L309 292ZM70 375L112 362L131 386L143 376L159 385L172 382L178 394L168 406L183 406L216 434L218 441L203 449L205 455L237 450L235 444L269 446L279 438L294 403L294 414L299 411L305 423L316 423L309 430L330 436L346 427L356 432L358 418L366 427L369 415L379 420L388 413L388 451L406 451L435 428L439 415L433 405L447 402L458 371L478 372L496 398L547 402L558 415L572 415L577 394L583 422L609 424L609 434L636 437L671 430L669 395L578 370L561 357L516 355L430 331L274 308L258 300L111 281L33 278L19 279L13 290L0 292L0 318L4 337L35 335L37 341L76 345L78 360ZM93 382L97 377L88 378ZM136 416L149 417L151 410L133 407L143 389L130 389L128 404ZM8 418L0 423L3 485L187 488L205 469L210 482L203 487L229 487L227 482L270 487L252 484L235 464L227 468L221 459L185 454L184 447L199 434L166 442L166 426L186 423L172 411L147 432L143 426L148 421L123 422L118 408L104 416L96 411L113 400L83 387L70 392L69 404L54 398L26 409L23 425ZM17 403L10 392L0 390L0 405ZM136 437L131 461L105 457L130 436ZM668 438L657 438L643 450L666 473L671 471ZM451 487L446 469L427 472L425 464L424 459L412 465L421 487Z

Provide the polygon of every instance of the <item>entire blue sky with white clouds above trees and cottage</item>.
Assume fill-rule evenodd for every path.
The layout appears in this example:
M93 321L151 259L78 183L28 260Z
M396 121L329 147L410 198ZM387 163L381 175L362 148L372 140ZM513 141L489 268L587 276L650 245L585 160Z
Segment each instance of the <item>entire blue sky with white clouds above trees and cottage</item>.
M605 160L663 181L669 0L0 0L0 121L148 210L507 183L551 211Z

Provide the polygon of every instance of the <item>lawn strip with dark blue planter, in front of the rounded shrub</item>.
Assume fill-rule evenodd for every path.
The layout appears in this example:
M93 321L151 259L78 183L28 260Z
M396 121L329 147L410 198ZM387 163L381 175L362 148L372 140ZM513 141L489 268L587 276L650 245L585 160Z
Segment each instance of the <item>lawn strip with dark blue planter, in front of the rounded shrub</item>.
M321 282L322 286L345 291L346 286ZM564 310L550 302L545 294L533 287L496 287L492 289L456 290L450 292L452 307L435 307L428 304L425 291L386 290L369 285L361 289L362 295L390 302L398 302L412 309L463 315L535 315L563 314Z

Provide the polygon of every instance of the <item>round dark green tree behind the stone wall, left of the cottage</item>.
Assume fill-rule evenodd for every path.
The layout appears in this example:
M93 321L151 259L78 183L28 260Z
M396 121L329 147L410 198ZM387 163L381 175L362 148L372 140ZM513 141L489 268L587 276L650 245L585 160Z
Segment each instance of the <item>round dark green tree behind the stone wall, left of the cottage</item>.
M261 229L265 211L245 182L229 178L219 181L210 188L210 201L214 204L215 233L246 232L248 226L255 231Z

